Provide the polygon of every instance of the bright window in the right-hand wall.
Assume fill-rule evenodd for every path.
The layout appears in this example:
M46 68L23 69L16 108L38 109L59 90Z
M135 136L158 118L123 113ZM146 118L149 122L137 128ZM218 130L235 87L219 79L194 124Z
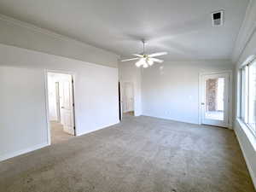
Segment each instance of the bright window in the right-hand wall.
M241 119L256 137L256 60L241 68Z

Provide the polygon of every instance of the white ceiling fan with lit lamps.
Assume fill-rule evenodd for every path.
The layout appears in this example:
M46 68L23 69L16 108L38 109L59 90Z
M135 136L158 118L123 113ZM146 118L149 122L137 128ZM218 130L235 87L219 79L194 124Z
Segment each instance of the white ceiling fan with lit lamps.
M160 59L157 59L157 58L154 58L154 57L155 56L160 56L160 55L167 55L167 52L159 52L159 53L154 53L154 54L147 55L145 53L145 41L142 40L142 42L143 42L143 53L142 54L134 54L134 56L137 56L137 57L127 59L127 60L122 60L122 62L138 60L135 65L137 67L143 66L144 68L147 68L149 66L154 65L154 62L162 63L163 60L160 60Z

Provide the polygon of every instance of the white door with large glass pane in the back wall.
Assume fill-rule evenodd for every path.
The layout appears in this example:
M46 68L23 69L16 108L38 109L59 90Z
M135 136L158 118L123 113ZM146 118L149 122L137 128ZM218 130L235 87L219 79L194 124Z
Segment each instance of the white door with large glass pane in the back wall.
M229 127L229 76L229 73L202 76L202 124Z

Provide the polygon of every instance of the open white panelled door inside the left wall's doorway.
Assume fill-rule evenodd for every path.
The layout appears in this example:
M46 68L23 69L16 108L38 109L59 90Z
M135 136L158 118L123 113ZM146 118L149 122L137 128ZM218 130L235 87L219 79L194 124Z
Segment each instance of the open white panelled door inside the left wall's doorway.
M60 87L60 103L61 103L61 124L64 131L74 135L74 114L73 114L73 83L72 76L61 79Z

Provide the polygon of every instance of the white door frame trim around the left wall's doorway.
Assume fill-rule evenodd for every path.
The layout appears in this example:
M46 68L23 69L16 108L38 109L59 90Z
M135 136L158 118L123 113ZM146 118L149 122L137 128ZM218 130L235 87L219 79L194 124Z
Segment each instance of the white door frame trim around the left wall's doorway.
M49 93L48 93L48 73L61 73L61 74L69 74L72 76L73 79L73 123L75 126L74 129L74 137L77 136L77 119L76 119L76 95L75 95L75 73L70 72L70 71L61 71L61 70L51 70L51 69L44 69L44 90L45 90L45 108L46 108L46 125L47 125L47 144L50 145L51 144L51 139L50 139L50 122L49 122Z

